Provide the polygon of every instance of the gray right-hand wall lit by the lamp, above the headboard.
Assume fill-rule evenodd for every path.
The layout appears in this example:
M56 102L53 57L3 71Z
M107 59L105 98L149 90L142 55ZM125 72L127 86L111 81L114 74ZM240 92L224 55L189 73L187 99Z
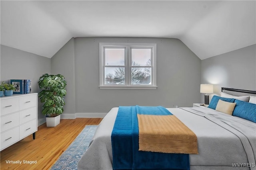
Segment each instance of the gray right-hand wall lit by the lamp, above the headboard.
M202 60L202 83L214 84L214 94L221 87L256 90L256 45Z

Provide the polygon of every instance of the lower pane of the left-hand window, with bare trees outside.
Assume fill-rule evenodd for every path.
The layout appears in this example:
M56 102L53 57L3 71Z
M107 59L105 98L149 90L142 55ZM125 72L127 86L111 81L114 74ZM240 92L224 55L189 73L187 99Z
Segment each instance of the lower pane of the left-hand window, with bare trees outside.
M125 84L124 67L105 67L105 84Z

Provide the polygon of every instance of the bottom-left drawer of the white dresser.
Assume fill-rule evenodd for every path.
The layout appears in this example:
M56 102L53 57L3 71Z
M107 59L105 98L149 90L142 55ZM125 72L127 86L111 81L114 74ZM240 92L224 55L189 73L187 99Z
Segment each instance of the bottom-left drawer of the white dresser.
M19 141L20 139L19 127L1 133L1 150Z

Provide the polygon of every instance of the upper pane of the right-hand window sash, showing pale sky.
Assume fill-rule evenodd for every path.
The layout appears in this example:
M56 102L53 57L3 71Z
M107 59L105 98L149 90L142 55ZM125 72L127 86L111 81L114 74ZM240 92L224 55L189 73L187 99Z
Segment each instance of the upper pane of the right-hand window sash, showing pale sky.
M151 49L132 49L133 66L151 66Z

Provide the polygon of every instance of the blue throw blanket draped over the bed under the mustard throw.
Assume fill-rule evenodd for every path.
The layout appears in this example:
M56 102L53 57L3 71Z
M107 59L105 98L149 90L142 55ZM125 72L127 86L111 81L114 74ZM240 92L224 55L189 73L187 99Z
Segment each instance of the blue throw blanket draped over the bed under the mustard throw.
M120 106L111 135L113 169L189 170L188 154L138 151L137 113L172 115L162 106Z

